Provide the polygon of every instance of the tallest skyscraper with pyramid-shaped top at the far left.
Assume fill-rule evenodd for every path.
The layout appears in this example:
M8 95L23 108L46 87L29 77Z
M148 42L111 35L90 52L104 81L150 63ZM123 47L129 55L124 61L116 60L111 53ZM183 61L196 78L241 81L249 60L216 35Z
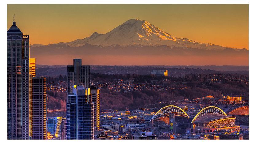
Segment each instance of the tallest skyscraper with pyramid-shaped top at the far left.
M31 139L32 66L29 35L16 22L7 31L7 139Z

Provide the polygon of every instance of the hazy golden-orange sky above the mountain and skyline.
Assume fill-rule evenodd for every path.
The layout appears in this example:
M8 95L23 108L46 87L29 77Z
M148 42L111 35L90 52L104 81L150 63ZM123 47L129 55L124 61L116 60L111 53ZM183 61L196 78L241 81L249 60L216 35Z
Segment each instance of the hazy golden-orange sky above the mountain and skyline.
M8 4L30 44L54 44L105 34L129 19L148 21L178 38L248 48L248 4Z

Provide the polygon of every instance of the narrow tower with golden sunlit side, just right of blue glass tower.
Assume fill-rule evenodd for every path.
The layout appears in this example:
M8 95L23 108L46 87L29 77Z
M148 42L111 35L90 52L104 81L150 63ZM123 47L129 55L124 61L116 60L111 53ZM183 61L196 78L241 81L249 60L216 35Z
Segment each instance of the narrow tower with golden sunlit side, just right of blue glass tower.
M91 102L94 104L94 129L99 130L99 89L91 86Z

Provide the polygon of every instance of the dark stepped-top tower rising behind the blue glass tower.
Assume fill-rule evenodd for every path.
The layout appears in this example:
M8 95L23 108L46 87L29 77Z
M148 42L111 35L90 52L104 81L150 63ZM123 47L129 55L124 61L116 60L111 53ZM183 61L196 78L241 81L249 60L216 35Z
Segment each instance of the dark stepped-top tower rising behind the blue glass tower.
M90 66L83 66L82 59L73 59L73 66L67 66L67 79L68 93L72 93L73 85L83 85L90 88Z

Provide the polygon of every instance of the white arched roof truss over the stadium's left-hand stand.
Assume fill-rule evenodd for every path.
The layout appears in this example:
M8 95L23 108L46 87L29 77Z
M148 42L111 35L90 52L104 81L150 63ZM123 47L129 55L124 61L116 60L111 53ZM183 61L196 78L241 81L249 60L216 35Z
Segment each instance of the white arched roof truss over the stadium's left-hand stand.
M157 119L163 115L167 115L169 113L176 113L177 116L188 116L188 114L181 108L175 106L175 105L169 105L166 107L161 108L159 111L157 111L154 116L150 119ZM188 116L189 117L189 116Z

